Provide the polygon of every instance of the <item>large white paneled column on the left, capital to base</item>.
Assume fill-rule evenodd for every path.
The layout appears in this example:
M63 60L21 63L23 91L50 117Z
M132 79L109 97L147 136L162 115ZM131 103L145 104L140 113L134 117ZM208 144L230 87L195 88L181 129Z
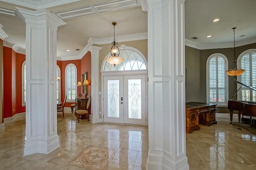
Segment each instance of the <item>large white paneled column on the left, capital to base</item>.
M24 155L60 146L57 134L56 39L66 24L43 9L17 8L26 22L26 142Z

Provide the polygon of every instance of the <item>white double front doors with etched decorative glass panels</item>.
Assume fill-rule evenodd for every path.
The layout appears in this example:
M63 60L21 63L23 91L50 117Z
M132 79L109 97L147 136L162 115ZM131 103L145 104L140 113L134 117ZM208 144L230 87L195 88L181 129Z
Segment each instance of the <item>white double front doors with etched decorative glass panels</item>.
M104 76L104 122L146 125L146 75Z

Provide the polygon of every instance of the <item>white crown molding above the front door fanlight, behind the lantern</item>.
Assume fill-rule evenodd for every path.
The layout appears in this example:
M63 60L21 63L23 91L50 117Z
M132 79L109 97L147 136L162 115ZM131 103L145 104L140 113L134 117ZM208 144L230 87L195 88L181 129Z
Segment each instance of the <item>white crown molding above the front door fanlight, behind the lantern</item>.
M136 33L136 34L118 36L116 37L116 42L120 43L120 42L136 41L136 40L142 40L142 39L148 39L148 33ZM103 38L103 39L90 38L88 40L88 43L89 42L97 45L108 44L113 42L113 37Z

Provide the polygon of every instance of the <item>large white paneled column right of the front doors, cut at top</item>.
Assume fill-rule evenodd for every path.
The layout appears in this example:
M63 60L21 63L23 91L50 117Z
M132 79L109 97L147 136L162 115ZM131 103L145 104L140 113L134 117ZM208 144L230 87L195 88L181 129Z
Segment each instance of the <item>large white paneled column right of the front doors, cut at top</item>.
M184 0L148 0L148 170L188 170Z

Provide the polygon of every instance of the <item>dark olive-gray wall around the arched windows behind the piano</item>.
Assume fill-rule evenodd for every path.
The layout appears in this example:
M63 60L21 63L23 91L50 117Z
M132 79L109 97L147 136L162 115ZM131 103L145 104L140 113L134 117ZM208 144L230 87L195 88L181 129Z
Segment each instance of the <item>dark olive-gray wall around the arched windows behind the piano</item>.
M256 43L236 47L236 59L242 52L255 48ZM198 50L186 46L186 102L206 102L206 61L208 57L214 53L221 53L225 55L228 58L228 69L234 68L234 48ZM235 78L232 76L228 77L229 98L231 98L237 90L237 83L234 79ZM189 88L189 86L191 88ZM236 96L233 99L236 100ZM218 108L217 112L229 113L226 107Z

